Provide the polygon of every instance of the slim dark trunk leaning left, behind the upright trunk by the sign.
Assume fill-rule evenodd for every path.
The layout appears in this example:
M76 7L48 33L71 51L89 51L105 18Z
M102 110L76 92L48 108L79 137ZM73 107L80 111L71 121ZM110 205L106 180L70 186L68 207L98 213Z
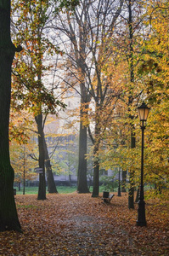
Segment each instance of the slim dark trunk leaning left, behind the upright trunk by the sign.
M43 134L43 146L44 146L44 153L45 153L45 166L47 170L48 193L51 193L51 194L58 193L56 189L56 185L54 183L54 175L52 172L52 166L50 164L50 158L48 155L48 148L47 148L47 143L45 141L44 132L42 134Z

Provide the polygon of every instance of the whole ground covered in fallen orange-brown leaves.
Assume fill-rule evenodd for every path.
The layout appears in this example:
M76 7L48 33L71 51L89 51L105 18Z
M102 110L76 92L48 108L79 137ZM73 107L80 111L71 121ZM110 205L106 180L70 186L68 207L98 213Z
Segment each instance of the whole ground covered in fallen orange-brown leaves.
M0 255L169 255L168 201L146 201L147 227L136 226L127 195L110 205L90 194L16 195L23 234L0 233Z

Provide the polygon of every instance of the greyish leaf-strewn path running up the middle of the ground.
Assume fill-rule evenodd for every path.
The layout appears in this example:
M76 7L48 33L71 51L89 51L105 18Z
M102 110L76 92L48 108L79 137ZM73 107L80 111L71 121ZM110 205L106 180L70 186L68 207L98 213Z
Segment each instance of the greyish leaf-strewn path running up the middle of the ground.
M123 230L119 223L116 223L117 211L115 218L112 218L115 212L115 202L104 204L101 198L93 199L91 195L86 195L86 197L84 200L82 195L81 200L80 195L80 203L70 201L73 210L70 207L71 213L69 218L65 218L65 229L62 233L68 254L133 255L132 237L128 236L127 231ZM74 254L71 253L72 241ZM139 255L138 252L136 253Z

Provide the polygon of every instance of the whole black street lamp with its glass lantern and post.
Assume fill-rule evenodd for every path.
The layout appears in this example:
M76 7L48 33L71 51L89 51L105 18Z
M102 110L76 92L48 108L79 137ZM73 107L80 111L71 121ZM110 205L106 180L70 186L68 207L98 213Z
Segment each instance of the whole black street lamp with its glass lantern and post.
M149 108L143 102L140 107L138 107L138 114L140 120L140 126L142 129L142 155L141 155L141 184L140 184L140 194L138 199L138 226L146 226L145 220L145 202L144 202L144 130L146 125L146 120L149 114Z

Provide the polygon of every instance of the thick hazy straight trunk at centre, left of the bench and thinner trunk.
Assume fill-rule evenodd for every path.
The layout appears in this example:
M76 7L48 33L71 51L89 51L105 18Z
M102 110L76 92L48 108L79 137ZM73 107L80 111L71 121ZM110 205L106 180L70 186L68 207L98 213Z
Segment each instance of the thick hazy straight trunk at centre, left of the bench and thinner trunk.
M82 117L81 109L81 117ZM79 163L78 163L78 173L77 173L77 191L78 193L88 193L87 187L87 127L82 125L82 120L80 121L80 131L79 131Z

